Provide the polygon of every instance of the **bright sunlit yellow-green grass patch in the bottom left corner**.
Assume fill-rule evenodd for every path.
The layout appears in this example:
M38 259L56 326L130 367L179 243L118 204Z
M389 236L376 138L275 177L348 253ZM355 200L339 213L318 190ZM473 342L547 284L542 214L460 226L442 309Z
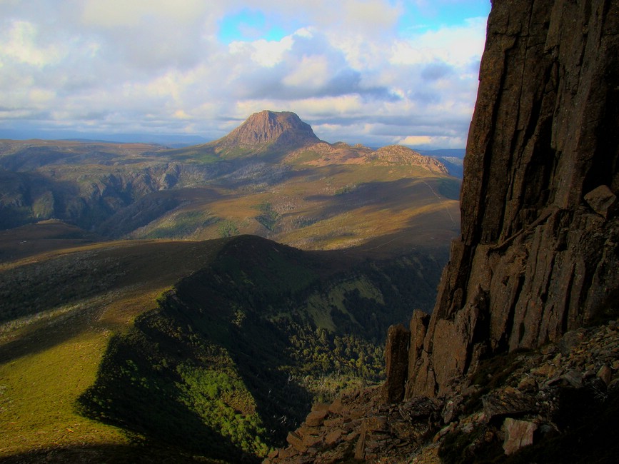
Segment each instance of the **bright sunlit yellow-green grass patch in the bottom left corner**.
M108 331L85 331L53 348L0 365L0 456L40 448L126 444L121 430L76 413L94 382Z

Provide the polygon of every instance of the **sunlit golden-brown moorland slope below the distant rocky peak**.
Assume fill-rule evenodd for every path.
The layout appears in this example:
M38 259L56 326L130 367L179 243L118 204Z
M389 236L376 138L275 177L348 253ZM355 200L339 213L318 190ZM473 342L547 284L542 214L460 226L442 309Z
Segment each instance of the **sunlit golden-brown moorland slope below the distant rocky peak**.
M301 166L273 186L221 187L218 198L194 197L131 236L205 240L221 237L225 223L235 233L313 250L359 246L376 231L386 236L410 228L424 241L437 234L448 240L458 231L458 190L456 179L416 166ZM264 205L271 208L268 222Z

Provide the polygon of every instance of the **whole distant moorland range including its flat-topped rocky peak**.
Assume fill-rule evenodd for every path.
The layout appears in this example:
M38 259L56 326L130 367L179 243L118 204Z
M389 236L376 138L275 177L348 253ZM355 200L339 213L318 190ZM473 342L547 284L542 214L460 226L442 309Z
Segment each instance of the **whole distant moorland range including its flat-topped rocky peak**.
M54 218L102 238L251 233L306 249L386 251L447 243L458 233L459 189L435 158L326 143L290 112L261 111L185 148L0 141L3 229Z

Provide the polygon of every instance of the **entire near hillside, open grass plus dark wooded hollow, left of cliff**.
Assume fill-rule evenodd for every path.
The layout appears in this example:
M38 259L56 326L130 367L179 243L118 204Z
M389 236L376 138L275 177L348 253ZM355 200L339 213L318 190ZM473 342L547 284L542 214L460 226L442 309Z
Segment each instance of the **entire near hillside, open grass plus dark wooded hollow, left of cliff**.
M427 283L398 292L393 285L411 280L411 265L438 279L440 263L351 259L238 237L96 243L5 263L1 281L13 285L1 289L3 301L23 303L21 317L6 317L15 305L0 307L0 458L34 450L49 457L60 447L67 459L112 459L134 453L135 440L173 460L264 455L311 398L376 378L376 343L394 308L404 319L411 295L431 304ZM46 305L33 311L24 288ZM211 398L213 381L220 386Z

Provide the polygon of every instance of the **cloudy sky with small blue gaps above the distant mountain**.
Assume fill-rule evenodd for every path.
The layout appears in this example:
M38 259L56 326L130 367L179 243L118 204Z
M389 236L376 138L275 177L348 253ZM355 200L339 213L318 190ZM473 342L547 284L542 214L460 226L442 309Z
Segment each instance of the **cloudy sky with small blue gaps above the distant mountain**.
M490 0L0 0L0 134L226 135L463 148ZM37 132L38 131L38 132Z

